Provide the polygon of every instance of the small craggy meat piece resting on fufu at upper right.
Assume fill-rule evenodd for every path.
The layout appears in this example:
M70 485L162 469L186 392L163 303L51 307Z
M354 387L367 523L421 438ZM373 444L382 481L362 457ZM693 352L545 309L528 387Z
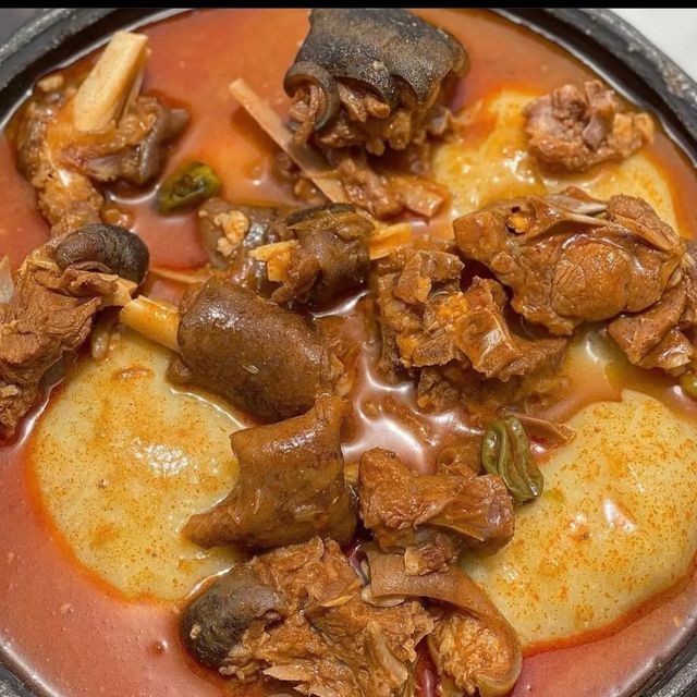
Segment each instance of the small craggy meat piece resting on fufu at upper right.
M648 113L628 113L614 90L597 80L583 91L564 85L530 102L523 114L530 150L553 169L583 172L598 162L622 160L653 142Z

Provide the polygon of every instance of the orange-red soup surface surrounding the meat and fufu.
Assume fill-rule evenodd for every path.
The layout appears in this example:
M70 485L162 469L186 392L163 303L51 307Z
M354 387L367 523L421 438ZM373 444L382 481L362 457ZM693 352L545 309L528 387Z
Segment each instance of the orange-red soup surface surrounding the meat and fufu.
M552 44L491 13L429 10L423 14L452 32L469 51L472 69L457 94L458 105L502 87L547 90L591 75ZM241 111L228 85L243 76L283 111L288 102L282 75L307 30L306 13L195 11L144 30L152 50L146 89L186 106L193 117L169 170L185 159L203 159L222 175L223 196L239 201L292 203L289 191L271 176L272 143ZM687 206L697 198L693 168L663 134L658 134L648 151L670 179L681 228L695 230L697 213ZM192 215L163 219L152 212L149 195L117 200L131 210L154 265L188 268L205 260ZM16 266L46 239L48 228L2 136L0 209L0 252L9 254ZM162 289L170 296L176 292ZM368 377L356 391L358 395L368 389ZM664 384L646 377L643 381L641 389L675 402ZM369 390L382 396L389 392L377 383ZM407 392L400 389L399 399L408 398ZM41 408L35 409L33 418ZM453 415L430 421L436 433L433 448L445 442L439 439L452 423ZM127 601L75 560L47 516L33 478L32 424L28 419L22 437L0 449L0 648L4 658L41 692L66 697L230 694L224 681L187 658L178 639L174 606ZM382 445L408 450L408 436L404 440L386 433L383 428L374 432L364 428L360 440L379 438ZM350 443L347 454L359 450L358 441ZM415 464L426 467L427 460ZM578 646L537 647L537 652L525 658L514 695L601 697L621 689L631 692L659 658L669 656L694 629L696 614L697 584L690 576L623 619L614 633L578 637L576 643L584 641ZM239 697L255 697L291 690L253 686L233 692Z

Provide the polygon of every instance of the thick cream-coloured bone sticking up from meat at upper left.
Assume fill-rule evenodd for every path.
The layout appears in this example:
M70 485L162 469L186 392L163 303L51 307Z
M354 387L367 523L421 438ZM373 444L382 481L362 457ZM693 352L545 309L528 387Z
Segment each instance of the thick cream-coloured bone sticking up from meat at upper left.
M77 131L98 133L119 121L140 90L147 36L117 32L77 89L73 121Z

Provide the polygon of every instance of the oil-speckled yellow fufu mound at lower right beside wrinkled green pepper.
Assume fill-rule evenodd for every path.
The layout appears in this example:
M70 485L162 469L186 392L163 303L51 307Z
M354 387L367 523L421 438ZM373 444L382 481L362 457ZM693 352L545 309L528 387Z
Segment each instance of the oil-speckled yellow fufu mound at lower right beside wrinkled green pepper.
M683 577L697 551L697 432L653 398L582 409L513 540L467 570L524 646L598 629Z

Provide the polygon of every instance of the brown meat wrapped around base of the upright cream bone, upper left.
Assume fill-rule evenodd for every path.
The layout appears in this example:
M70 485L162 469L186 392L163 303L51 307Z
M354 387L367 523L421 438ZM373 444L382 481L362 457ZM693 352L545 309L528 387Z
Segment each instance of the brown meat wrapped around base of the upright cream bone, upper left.
M11 129L17 164L37 189L52 235L101 221L99 184L140 186L155 180L164 167L167 145L188 122L186 110L139 96L111 131L80 133L70 115L75 88L63 80L58 89L37 89Z

